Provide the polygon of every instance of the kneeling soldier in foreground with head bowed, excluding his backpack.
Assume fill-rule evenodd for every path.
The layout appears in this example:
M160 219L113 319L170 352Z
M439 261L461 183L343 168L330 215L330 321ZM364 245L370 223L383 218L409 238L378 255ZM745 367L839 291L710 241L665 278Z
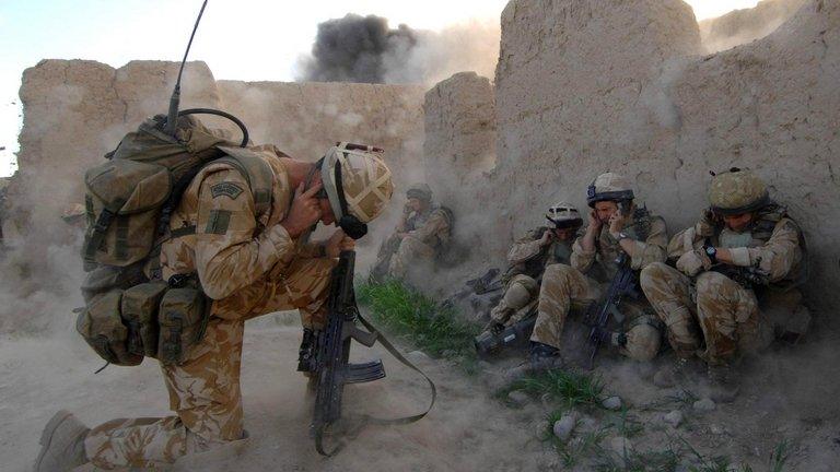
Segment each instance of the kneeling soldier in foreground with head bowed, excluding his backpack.
M245 438L240 391L245 320L296 308L305 328L324 327L335 258L354 243L342 231L327 241L306 243L308 231L318 222L378 216L393 192L390 170L376 153L341 146L318 164L285 157L273 146L257 154L273 170L268 214L257 221L245 176L231 164L213 163L191 181L172 217L173 229L195 226L195 234L162 249L164 280L198 273L213 299L201 341L182 364L163 366L176 415L114 420L89 429L60 411L44 429L36 471L88 462L106 470L155 468Z

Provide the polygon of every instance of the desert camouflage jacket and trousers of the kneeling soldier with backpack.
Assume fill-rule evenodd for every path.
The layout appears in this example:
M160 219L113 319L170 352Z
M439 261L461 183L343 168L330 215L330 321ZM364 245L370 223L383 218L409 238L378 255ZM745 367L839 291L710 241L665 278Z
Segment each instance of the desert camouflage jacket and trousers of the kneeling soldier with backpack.
M194 235L167 241L164 280L197 272L213 299L205 338L177 366L162 366L176 416L115 420L91 430L85 451L102 469L153 468L243 437L240 364L245 320L300 309L304 327L323 327L334 260L324 247L292 239L279 223L293 197L277 154L260 155L275 173L273 203L255 221L245 177L212 164L192 180L172 217L172 229ZM187 232L189 233L189 232Z

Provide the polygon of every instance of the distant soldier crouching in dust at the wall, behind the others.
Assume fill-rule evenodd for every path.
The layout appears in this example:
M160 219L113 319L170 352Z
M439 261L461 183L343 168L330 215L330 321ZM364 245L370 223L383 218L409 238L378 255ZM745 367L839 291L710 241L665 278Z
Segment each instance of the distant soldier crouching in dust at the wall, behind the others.
M406 197L408 202L396 233L380 247L371 272L373 280L405 279L409 268L422 261L434 262L450 243L452 212L434 204L429 186L416 184Z

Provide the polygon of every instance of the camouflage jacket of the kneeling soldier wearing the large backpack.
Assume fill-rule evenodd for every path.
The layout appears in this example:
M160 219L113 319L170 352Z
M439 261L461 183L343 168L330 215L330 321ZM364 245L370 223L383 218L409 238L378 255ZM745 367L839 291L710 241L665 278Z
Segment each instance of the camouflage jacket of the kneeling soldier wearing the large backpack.
M248 310L268 284L265 278L282 278L295 257L324 253L323 246L293 239L280 222L291 206L294 189L273 146L254 149L275 174L272 204L255 216L254 197L245 176L228 164L210 164L192 179L173 212L171 231L195 227L195 234L163 244L164 280L173 274L197 273L201 287L214 304L214 315Z

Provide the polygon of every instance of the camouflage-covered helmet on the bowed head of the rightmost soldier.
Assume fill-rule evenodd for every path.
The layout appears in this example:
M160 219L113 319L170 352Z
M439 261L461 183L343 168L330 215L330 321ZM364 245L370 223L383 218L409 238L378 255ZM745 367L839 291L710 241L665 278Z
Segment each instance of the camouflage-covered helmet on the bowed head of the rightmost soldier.
M723 215L735 215L760 210L770 203L767 184L750 170L737 167L714 175L709 186L709 203Z

